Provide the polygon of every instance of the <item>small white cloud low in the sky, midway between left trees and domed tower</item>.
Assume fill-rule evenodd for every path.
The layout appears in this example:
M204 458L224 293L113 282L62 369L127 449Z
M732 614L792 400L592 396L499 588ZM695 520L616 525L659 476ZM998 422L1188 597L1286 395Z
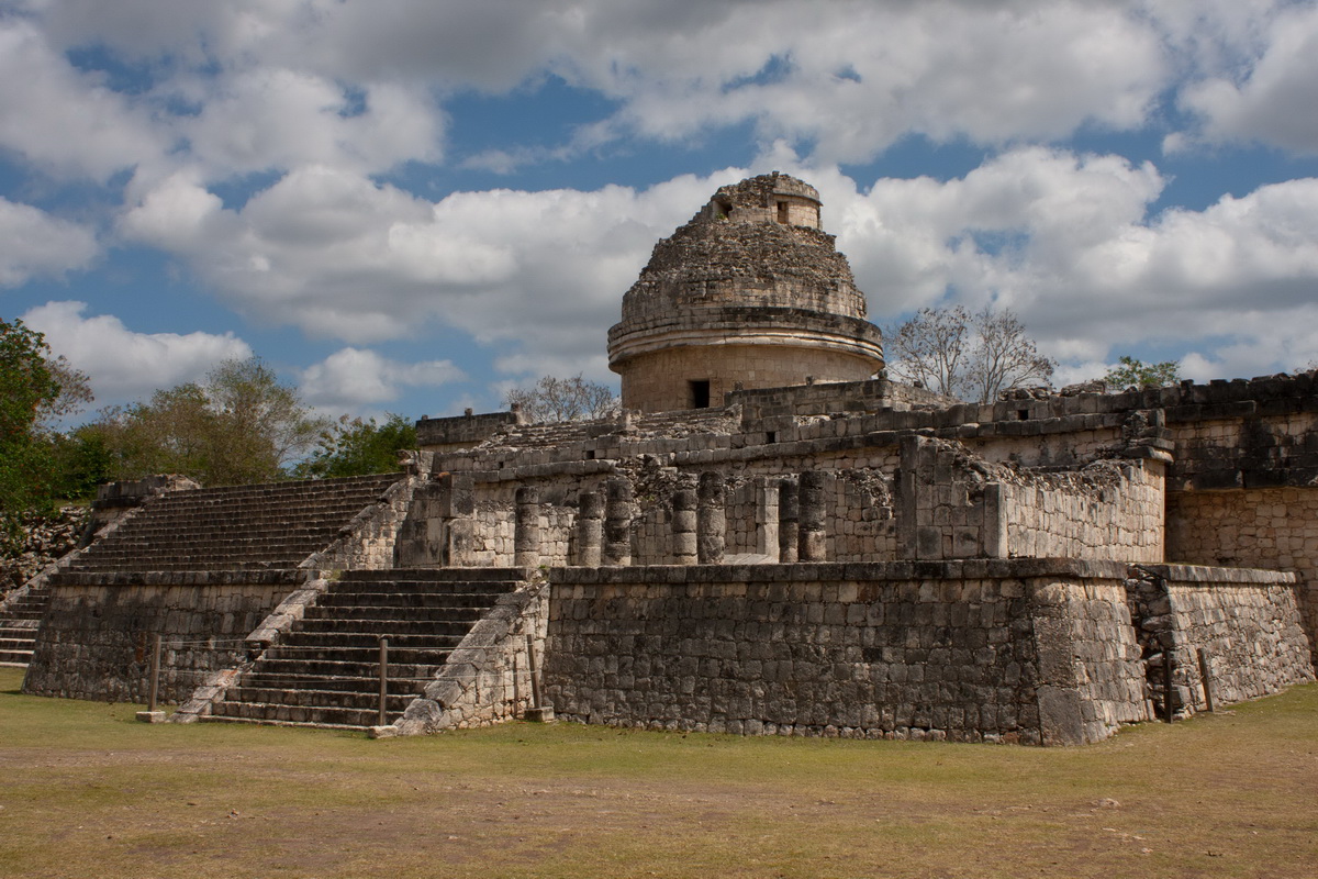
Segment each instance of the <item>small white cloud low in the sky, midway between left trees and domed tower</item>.
M435 387L464 377L448 360L403 364L374 351L343 348L302 372L302 391L320 407L356 410L387 403L403 386Z

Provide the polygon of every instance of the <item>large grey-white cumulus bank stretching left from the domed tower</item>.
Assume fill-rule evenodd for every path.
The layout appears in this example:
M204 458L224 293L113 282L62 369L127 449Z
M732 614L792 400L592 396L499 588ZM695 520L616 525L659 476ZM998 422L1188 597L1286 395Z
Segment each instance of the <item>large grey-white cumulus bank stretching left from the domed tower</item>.
M175 177L129 210L120 232L186 258L245 311L315 336L369 344L443 322L484 343L581 362L598 352L655 240L739 175L679 177L645 191L455 192L431 203L314 167L241 210Z

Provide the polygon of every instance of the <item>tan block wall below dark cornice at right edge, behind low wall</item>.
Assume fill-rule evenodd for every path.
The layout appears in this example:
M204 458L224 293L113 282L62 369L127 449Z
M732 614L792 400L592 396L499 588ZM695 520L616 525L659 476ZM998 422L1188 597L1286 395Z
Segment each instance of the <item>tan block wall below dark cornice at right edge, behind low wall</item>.
M1294 572L1305 630L1318 643L1318 486L1172 492L1166 542L1170 561Z

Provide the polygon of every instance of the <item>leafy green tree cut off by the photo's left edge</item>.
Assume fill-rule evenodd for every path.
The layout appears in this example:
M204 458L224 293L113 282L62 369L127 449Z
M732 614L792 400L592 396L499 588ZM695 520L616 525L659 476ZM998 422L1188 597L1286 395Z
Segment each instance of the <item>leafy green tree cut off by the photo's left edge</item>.
M51 424L91 399L87 377L51 357L21 320L0 320L0 536L24 511L46 511L57 494Z

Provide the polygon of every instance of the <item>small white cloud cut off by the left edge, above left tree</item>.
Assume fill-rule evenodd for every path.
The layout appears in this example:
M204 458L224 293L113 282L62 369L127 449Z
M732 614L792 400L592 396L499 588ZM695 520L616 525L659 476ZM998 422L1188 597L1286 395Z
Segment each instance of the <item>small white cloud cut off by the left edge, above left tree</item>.
M0 198L0 287L84 269L96 253L90 229Z

